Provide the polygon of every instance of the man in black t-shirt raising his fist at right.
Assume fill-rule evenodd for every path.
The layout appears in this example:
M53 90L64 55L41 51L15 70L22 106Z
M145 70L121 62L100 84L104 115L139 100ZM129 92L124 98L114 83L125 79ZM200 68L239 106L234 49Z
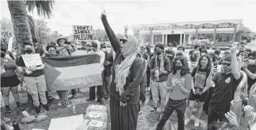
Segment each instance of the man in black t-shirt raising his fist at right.
M225 113L231 106L231 101L234 99L234 92L242 80L242 73L239 71L239 65L236 55L237 45L231 46L231 55L227 55L221 62L221 72L216 73L216 68L211 69L206 80L206 88L202 93L206 93L208 88L215 85L208 108L208 129L214 121L226 121Z

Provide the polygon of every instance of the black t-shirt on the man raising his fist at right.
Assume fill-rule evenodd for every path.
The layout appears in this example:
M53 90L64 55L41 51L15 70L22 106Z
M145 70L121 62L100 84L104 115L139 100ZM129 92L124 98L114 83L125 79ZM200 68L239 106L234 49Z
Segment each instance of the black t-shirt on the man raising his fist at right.
M230 102L234 99L234 92L237 90L237 86L242 78L242 73L239 80L236 80L232 74L225 75L221 72L216 73L213 76L215 87L213 88L209 106L219 110L229 111Z

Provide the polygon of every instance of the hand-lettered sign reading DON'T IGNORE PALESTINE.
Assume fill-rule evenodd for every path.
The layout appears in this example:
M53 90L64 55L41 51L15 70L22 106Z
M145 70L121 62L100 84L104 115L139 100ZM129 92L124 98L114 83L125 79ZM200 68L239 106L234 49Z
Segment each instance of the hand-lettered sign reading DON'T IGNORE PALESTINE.
M93 39L92 26L73 25L73 34L75 41L86 41Z

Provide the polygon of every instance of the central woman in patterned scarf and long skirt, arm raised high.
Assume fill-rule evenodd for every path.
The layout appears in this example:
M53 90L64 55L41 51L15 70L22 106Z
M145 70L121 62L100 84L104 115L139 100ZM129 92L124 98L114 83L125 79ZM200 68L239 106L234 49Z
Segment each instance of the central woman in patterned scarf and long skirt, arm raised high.
M138 40L133 35L128 35L119 41L107 22L105 11L102 12L101 19L116 53L110 85L111 130L136 130L139 84L144 71L142 60L136 57L140 50Z

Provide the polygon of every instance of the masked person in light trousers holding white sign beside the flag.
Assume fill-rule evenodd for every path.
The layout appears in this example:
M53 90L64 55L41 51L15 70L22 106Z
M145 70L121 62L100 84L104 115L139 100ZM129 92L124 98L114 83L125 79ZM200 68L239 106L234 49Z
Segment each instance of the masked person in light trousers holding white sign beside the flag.
M49 107L47 105L48 102L45 97L45 91L47 88L45 84L45 75L43 75L43 69L45 68L43 60L39 54L32 54L32 44L25 42L23 43L23 47L25 50L25 55L18 58L17 65L22 67L24 72L27 93L32 96L36 113L40 113L40 101L42 102L42 106L45 108L45 111L49 111ZM37 56L33 57L34 55Z

